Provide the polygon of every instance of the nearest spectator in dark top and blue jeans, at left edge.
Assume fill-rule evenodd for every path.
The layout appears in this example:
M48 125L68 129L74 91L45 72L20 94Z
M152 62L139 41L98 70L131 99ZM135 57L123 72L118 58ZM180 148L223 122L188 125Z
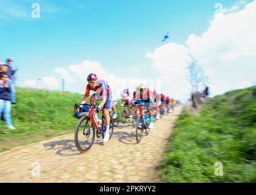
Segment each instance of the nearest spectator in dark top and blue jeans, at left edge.
M9 129L14 130L15 127L13 127L12 119L11 119L11 108L12 104L10 102L10 83L9 83L9 77L5 73L0 74L0 118L2 115L2 112L4 113L4 119L7 124L7 127Z

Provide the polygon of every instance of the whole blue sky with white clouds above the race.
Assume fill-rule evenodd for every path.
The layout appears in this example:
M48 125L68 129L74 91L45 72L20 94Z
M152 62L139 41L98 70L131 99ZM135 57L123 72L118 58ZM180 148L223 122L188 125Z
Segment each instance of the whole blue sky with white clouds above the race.
M84 93L95 73L116 96L144 83L185 101L191 55L211 96L256 85L255 24L252 0L0 0L0 59L13 59L20 87L61 90L65 79Z

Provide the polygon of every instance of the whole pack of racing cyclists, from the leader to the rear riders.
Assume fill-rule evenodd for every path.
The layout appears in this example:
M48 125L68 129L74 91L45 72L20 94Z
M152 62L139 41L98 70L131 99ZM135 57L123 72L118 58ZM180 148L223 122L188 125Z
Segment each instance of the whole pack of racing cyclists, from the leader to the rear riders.
M113 111L113 119L116 119L118 112L116 110L116 106L118 105L118 99L113 96L113 91L105 80L98 79L96 74L89 74L87 77L87 87L85 90L84 98L80 102L80 106L87 102L90 91L95 91L95 93L90 98L91 104L96 104L96 101L101 101L98 107L95 108L96 112L94 113L94 118L98 120L98 116L96 113L99 113L103 110L105 116L105 136L103 141L108 142L110 138L109 128L110 128L110 112ZM156 90L151 91L148 87L143 84L140 84L130 94L129 89L123 90L121 94L121 105L122 107L127 107L127 117L132 118L132 105L148 105L148 115L149 115L149 129L154 128L154 113L155 119L160 119L160 115L163 112L171 112L169 106L174 109L176 105L176 100L169 98L169 96L165 96L165 94L158 94ZM135 112L139 112L143 115L143 107L138 108L140 110L135 110ZM137 124L138 127L141 124Z

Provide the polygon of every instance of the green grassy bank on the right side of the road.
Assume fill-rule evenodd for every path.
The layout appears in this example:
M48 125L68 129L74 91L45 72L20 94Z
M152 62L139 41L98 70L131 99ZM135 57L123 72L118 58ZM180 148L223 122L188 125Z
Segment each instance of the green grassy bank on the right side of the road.
M199 116L183 110L160 166L162 182L256 182L255 87L208 99ZM215 163L223 176L215 176Z

